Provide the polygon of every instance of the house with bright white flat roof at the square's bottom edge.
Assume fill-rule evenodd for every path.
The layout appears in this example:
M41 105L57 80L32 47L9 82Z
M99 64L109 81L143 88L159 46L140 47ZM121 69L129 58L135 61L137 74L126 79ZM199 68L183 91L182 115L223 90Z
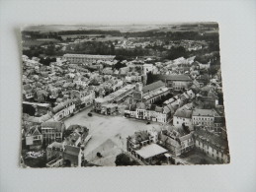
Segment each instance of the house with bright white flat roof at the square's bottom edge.
M150 131L135 132L128 137L128 153L144 164L155 164L167 152L155 143L155 136Z

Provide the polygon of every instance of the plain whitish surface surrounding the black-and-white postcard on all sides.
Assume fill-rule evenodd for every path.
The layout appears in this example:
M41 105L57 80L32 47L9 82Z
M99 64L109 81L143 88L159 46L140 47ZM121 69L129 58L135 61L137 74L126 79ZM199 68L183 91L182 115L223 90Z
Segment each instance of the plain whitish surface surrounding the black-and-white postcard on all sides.
M254 1L0 2L0 191L256 191ZM21 169L20 52L25 24L218 22L228 165Z

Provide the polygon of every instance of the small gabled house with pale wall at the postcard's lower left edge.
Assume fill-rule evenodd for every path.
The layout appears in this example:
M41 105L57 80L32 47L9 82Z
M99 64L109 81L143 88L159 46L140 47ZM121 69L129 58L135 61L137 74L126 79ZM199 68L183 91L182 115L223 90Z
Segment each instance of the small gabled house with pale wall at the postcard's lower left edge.
M30 150L40 150L43 145L43 134L40 132L40 126L35 125L29 128L26 135L26 146Z

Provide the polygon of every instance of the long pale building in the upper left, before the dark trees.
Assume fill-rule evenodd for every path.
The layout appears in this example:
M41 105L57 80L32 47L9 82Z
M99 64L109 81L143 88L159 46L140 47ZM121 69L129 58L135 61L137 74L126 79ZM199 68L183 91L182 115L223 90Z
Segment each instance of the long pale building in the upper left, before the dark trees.
M113 61L115 57L115 55L64 54L62 59L67 60L70 63L92 63L97 60Z

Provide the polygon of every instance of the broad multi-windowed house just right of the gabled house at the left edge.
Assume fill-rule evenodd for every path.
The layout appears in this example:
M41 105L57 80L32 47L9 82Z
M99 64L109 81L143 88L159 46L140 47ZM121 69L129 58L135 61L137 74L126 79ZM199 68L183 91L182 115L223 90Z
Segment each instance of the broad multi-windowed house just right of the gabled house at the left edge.
M65 130L65 124L63 122L43 122L42 123L42 134L43 143L49 145L54 141L62 142L62 134Z

